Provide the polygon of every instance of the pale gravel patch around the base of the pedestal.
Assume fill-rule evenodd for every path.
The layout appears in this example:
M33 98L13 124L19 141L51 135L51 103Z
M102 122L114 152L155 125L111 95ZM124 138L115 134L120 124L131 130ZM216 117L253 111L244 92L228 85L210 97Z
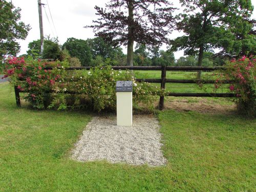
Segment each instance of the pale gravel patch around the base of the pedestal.
M115 117L94 117L75 144L72 158L78 161L107 160L111 163L166 163L161 152L158 120L133 116L133 126L117 126Z

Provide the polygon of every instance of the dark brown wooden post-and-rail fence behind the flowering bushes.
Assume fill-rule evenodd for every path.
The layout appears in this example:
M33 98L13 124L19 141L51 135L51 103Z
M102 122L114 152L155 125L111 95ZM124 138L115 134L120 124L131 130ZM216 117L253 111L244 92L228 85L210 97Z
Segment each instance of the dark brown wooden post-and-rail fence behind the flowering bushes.
M46 70L51 70L52 68L44 68ZM70 67L67 70L90 70L91 67ZM167 71L215 71L215 70L225 70L224 67L178 67L178 66L113 66L113 70L157 70L161 71L160 79L136 79L138 82L151 82L151 83L161 83L161 89L165 89L166 83L205 83L205 84L214 84L215 80L203 80L203 79L166 79ZM230 80L224 80L223 83L232 83ZM20 96L19 93L22 91L18 90L17 87L14 87L16 104L20 106ZM68 94L76 94L75 92L66 92ZM236 97L233 93L172 93L167 92L165 96L175 96L175 97ZM163 110L164 108L164 96L160 96L159 100L159 109Z

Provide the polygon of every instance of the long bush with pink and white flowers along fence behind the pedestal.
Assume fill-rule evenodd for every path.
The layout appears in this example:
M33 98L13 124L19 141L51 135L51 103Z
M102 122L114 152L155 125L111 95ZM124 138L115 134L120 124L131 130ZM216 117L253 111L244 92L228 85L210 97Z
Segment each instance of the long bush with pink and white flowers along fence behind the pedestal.
M52 70L47 70L52 67ZM5 76L13 86L24 92L24 98L34 108L116 109L116 81L133 81L133 102L135 106L153 108L154 95L163 94L155 86L145 82L135 82L130 71L115 71L111 66L95 67L87 70L68 71L68 61L33 60L8 58L5 62Z

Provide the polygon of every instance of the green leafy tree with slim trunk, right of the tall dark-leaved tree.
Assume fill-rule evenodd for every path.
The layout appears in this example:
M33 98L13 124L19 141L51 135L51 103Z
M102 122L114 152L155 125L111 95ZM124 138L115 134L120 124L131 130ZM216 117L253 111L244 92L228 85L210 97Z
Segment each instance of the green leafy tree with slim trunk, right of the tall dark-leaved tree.
M171 51L184 49L185 55L198 54L198 66L202 66L203 53L215 48L230 49L236 30L250 17L250 0L180 0L184 13L180 14L177 29L184 36L170 41ZM236 25L234 25L236 24ZM238 29L237 29L238 30ZM201 71L198 78L201 77Z

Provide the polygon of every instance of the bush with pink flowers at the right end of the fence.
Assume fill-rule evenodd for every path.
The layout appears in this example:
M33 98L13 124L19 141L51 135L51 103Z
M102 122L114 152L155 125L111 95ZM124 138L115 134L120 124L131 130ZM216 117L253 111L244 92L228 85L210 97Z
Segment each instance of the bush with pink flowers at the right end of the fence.
M222 71L216 80L215 87L221 86L222 79L232 80L229 90L236 94L234 101L240 114L256 116L256 59L243 56L226 63L226 70Z

